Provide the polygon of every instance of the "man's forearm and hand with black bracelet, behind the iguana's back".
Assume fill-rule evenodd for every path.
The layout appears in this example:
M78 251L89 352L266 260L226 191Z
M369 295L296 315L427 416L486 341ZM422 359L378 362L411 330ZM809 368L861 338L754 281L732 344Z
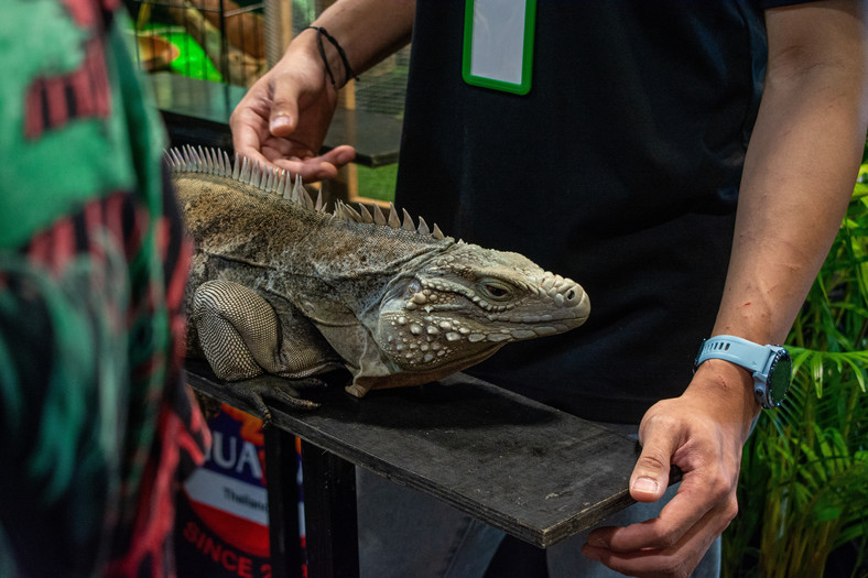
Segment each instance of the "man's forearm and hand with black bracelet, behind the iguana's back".
M410 41L414 0L339 0L313 23L325 29L360 74ZM326 62L319 52L322 41ZM319 155L337 106L338 89L349 80L337 48L315 30L293 39L283 58L250 87L229 124L236 152L301 174L306 181L330 178L355 156L340 145Z

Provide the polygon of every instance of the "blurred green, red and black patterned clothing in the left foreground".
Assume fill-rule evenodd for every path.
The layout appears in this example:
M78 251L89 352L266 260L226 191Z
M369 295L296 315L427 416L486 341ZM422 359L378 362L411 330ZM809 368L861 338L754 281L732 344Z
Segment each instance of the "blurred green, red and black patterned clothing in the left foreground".
M0 576L174 576L209 441L181 380L189 257L120 0L0 12Z

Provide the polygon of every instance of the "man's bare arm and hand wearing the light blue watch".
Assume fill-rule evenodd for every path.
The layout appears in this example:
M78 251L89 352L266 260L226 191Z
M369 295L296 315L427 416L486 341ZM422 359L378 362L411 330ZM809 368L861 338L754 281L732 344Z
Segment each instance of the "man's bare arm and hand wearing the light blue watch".
M769 67L712 335L782 342L840 225L868 124L866 9L835 0L768 10ZM699 343L697 343L698 349ZM640 426L631 494L677 495L643 524L592 533L585 554L631 576L686 576L738 510L741 446L759 406L749 373L703 363Z

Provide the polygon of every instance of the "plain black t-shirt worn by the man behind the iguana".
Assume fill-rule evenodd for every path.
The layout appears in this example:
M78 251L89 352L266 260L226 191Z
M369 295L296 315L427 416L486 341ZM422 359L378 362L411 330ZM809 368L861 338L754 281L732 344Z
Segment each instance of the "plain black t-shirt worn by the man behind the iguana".
M475 373L637 423L712 330L766 66L749 1L541 0L527 96L462 79L460 0L419 0L397 200L581 283L585 326Z

